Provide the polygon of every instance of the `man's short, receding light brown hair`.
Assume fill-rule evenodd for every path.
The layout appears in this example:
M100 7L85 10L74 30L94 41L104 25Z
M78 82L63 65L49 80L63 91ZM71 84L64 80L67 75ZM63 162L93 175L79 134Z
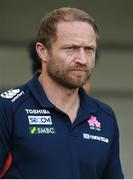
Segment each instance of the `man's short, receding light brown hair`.
M98 27L94 19L85 11L77 8L62 7L49 12L43 17L37 34L37 41L41 42L47 49L57 39L57 25L59 22L82 21L90 24L98 37Z

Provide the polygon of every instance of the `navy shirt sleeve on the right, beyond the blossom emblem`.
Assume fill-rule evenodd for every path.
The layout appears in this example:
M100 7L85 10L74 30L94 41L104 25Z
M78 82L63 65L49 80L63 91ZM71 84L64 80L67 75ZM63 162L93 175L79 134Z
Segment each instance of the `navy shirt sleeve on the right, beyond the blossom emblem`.
M121 168L120 163L120 152L119 152L119 129L117 125L117 121L114 115L114 135L113 135L113 141L110 148L108 161L106 168L104 170L103 179L123 179L124 175Z

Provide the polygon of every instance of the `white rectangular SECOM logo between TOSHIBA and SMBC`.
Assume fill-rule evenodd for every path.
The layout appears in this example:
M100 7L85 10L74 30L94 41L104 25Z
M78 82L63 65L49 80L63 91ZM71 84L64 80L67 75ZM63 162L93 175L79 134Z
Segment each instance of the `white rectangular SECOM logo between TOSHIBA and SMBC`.
M50 116L28 116L29 124L52 125Z

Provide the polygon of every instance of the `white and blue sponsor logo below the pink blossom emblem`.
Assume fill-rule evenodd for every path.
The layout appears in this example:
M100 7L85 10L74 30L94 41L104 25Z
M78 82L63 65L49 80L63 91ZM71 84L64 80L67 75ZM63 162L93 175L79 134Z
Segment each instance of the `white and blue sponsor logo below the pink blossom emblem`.
M89 140L96 140L96 141L102 141L102 142L105 142L105 143L109 143L109 139L106 138L106 137L91 135L91 134L88 134L88 133L83 133L83 138L84 139L89 139Z

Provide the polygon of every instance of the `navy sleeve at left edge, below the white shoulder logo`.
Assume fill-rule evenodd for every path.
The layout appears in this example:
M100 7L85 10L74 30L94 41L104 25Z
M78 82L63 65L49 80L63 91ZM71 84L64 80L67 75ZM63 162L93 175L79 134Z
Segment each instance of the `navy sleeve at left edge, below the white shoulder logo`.
M11 151L12 114L11 106L0 98L0 172Z

